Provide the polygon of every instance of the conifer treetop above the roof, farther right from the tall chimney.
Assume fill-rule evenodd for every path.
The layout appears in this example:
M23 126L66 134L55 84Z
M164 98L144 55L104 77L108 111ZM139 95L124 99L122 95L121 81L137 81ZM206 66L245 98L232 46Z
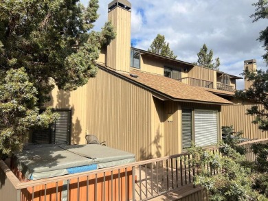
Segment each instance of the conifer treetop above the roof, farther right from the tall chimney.
M213 62L213 51L210 49L210 52L208 52L207 45L203 45L203 47L200 49L199 53L197 53L198 60L197 63L201 67L207 67L210 69L219 70L219 66L221 65L219 57L215 59L215 62Z

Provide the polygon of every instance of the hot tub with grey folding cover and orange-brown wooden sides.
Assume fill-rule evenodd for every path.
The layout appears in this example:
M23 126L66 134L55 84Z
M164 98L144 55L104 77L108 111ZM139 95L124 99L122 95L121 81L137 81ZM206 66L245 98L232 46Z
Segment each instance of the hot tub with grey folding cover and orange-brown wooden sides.
M34 186L21 191L23 201L131 200L131 168L100 170L132 162L135 155L102 145L37 145L14 154L11 167L21 182Z

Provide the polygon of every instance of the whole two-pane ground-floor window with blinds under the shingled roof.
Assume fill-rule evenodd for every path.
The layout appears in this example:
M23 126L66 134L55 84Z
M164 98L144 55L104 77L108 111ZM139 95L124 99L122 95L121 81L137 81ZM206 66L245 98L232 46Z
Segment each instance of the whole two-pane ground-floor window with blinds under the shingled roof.
M190 147L191 141L198 146L212 145L218 142L217 110L182 110L182 147Z

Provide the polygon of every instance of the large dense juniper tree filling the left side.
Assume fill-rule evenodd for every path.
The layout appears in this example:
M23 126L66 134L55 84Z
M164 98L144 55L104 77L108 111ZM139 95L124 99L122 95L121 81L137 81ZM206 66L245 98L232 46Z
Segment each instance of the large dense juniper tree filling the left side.
M87 8L79 0L0 1L0 154L54 120L49 109L38 115L54 84L74 90L96 75L100 49L115 38L111 23L91 30L98 7L98 0Z

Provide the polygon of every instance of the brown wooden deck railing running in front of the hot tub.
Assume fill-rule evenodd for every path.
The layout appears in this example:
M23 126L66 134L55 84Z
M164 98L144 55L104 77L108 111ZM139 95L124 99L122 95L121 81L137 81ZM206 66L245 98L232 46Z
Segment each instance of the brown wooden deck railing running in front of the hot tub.
M268 139L241 143L241 146L246 147L248 151L246 154L248 161L254 161L256 158L249 149L253 143L268 143ZM219 153L216 148L211 148L209 151ZM10 195L6 190L9 189L16 197L14 200L17 201L60 201L63 197L72 201L150 200L193 182L197 169L190 164L191 157L190 154L183 153L29 182L19 182L5 163L0 161L0 198L1 200L8 199ZM207 169L210 175L219 173L218 169L212 169L210 164ZM193 185L191 187L194 189Z

